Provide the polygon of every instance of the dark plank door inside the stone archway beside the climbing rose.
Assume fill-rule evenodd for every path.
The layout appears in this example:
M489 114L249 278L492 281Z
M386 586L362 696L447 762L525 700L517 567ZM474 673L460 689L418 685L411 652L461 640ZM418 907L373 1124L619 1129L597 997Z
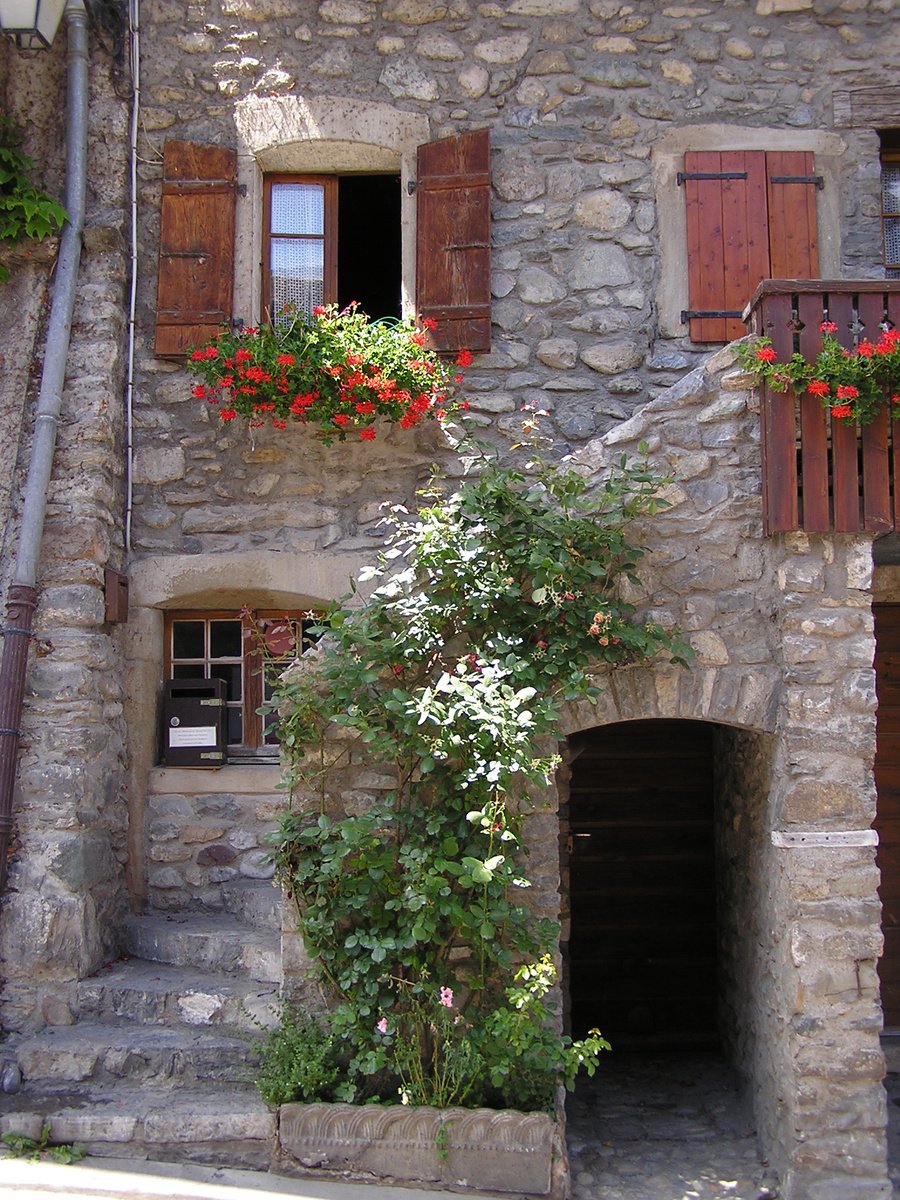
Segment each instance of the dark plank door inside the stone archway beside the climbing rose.
M575 1036L596 1025L617 1049L718 1046L714 728L646 720L570 738Z

